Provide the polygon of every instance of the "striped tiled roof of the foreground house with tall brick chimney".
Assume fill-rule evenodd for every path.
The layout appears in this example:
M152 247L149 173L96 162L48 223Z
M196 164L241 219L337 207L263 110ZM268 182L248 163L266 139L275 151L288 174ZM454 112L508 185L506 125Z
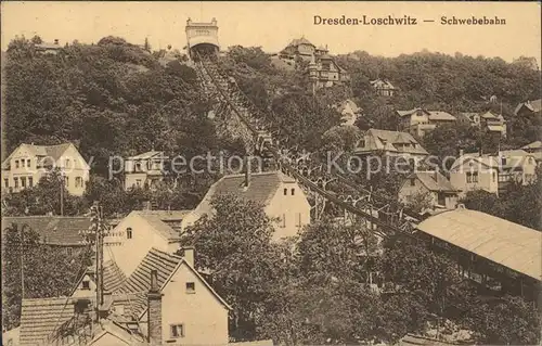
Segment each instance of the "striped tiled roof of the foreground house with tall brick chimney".
M157 271L158 286L160 291L169 283L169 280L180 266L186 266L207 286L207 289L227 308L230 306L212 290L202 275L190 266L182 257L152 248L141 264L131 273L128 280L118 289L118 297L114 296L115 304L121 299L130 300L131 312L140 317L146 310L146 293L151 289L151 270Z

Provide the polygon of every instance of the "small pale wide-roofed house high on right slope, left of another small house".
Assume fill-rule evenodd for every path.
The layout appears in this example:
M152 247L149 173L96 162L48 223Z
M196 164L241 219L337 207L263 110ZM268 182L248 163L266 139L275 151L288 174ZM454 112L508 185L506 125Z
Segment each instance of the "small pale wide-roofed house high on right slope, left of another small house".
M417 137L424 137L428 131L433 131L439 125L454 124L456 118L450 113L443 111L427 111L421 107L397 111L400 117L401 126Z

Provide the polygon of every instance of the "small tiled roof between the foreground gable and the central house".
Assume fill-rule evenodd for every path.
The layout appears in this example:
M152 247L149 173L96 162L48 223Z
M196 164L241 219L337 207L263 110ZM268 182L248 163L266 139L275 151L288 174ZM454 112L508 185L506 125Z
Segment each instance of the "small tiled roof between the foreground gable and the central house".
M181 236L181 221L191 210L136 210L156 231L168 241L177 241Z

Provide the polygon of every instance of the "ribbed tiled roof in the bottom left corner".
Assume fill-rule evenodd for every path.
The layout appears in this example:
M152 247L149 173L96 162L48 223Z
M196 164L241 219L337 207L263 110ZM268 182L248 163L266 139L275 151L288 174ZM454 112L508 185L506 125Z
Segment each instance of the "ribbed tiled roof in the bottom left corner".
M52 336L55 329L74 316L67 297L23 299L21 311L21 346L38 345Z

